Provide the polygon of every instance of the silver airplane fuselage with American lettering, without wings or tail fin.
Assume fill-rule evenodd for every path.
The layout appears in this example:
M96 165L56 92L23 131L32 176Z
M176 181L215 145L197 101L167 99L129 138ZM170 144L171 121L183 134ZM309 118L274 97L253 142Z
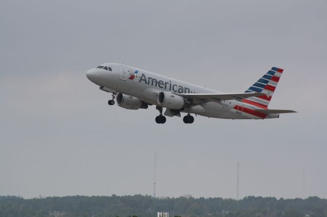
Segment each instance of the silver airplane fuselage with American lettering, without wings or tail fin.
M108 92L120 92L137 97L151 105L158 105L157 95L162 91L179 94L221 93L127 65L106 63L101 64L101 66L106 66L111 71L103 68L90 69L86 75L91 82L105 88ZM279 117L276 114L264 115L256 113L253 111L253 108L258 108L258 106L238 100L222 100L220 102L200 103L180 112L223 119L266 119ZM245 110L253 112L244 112Z

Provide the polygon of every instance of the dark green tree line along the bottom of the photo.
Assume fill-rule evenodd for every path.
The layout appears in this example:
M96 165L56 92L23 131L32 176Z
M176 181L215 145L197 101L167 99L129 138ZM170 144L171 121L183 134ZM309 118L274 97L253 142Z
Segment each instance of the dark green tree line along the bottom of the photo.
M92 216L92 217L156 217L157 212L181 217L233 216L327 216L327 200L276 199L245 197L241 200L223 198L154 198L152 196L67 196L24 199L0 196L0 217L14 216Z

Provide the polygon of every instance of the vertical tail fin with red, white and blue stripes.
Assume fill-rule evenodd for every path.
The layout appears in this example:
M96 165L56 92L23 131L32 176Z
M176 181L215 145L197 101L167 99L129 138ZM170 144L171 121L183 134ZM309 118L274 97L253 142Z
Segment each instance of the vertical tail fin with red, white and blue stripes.
M261 92L266 95L250 97L243 99L243 101L261 108L267 108L283 71L284 69L272 67L264 76L245 91L245 93Z

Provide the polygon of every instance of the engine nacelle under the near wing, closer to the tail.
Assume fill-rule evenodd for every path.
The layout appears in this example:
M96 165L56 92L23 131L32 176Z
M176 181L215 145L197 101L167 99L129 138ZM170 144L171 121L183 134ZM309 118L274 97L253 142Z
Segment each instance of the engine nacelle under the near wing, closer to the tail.
M177 96L170 92L160 92L158 94L158 104L162 107L167 107L172 110L179 110L184 106L183 97Z

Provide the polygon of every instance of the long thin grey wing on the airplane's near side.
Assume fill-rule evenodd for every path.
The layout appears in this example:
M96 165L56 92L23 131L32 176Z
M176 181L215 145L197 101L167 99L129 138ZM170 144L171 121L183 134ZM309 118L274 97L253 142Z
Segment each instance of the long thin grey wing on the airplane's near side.
M251 92L251 93L183 93L177 94L179 96L187 97L195 101L203 102L220 102L221 100L231 100L235 99L241 101L242 99L262 96L265 93Z

